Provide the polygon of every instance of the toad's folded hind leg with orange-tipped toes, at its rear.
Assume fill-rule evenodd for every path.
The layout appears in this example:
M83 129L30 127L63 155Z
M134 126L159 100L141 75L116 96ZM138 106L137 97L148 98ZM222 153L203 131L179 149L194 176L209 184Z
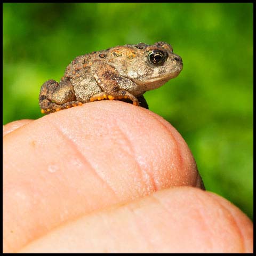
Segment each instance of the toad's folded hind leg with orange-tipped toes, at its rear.
M82 102L76 100L74 87L70 81L57 83L51 79L41 86L39 105L42 114L49 114L61 109L82 105Z

